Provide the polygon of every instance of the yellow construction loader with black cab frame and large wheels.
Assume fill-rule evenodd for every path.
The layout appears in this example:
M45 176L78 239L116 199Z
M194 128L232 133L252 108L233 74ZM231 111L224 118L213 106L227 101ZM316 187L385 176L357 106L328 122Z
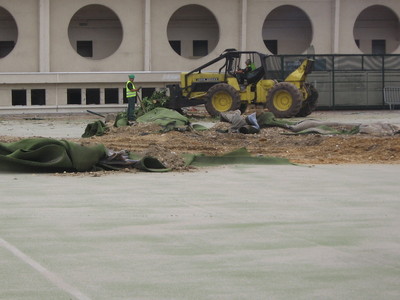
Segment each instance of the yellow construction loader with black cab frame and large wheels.
M199 68L182 73L180 84L168 85L167 106L179 110L204 104L211 116L237 109L244 113L249 104L264 105L278 118L311 114L318 100L317 90L306 82L313 61L305 59L279 80L283 73L276 66L271 67L273 58L255 51L227 49ZM251 68L246 71L245 62L249 61ZM204 71L211 66L216 71Z

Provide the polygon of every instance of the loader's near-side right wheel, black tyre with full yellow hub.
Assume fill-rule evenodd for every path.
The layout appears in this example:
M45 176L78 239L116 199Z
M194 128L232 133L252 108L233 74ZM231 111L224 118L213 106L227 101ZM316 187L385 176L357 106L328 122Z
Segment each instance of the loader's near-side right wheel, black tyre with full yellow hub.
M291 118L299 113L302 100L303 95L294 84L280 82L269 90L265 106L277 118Z

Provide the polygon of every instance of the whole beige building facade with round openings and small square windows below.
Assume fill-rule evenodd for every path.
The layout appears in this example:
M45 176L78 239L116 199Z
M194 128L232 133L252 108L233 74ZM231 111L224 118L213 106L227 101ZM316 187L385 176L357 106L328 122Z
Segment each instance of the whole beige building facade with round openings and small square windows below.
M0 0L0 112L124 106L227 48L400 54L398 0Z

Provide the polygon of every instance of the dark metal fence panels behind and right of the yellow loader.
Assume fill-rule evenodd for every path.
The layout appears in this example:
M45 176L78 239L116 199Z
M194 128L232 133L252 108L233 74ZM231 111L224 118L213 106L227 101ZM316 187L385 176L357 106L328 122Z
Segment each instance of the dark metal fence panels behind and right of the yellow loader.
M270 56L269 75L284 79L306 57L314 60L308 81L318 90L321 109L389 108L385 88L400 88L400 55Z

